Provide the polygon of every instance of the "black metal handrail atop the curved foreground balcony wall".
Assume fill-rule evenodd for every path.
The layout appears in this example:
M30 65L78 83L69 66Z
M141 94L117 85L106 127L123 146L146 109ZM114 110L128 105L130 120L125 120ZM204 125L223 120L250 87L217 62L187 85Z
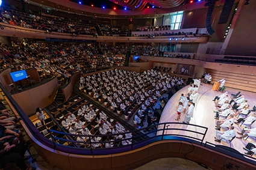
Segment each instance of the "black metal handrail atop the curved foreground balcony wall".
M166 126L167 125L167 126ZM169 128L169 126L175 126L176 128ZM180 127L179 127L180 126ZM190 129L184 129L183 126L189 126ZM192 130L193 127L196 127L195 130ZM146 131L147 129L155 129L152 131ZM130 144L130 150L133 150L133 148L137 148L136 145L140 144L142 142L149 142L151 141L153 138L158 138L157 141L161 141L161 140L165 140L165 139L179 139L182 141L187 141L190 140L196 144L200 144L202 145L202 142L204 141L205 135L207 133L208 128L207 127L203 127L203 126L198 126L195 124L183 124L183 123L160 123L160 124L155 124L149 127L144 127L142 129L138 129L138 130L134 130L133 132L125 132L125 133L117 133L117 134L109 134L109 135L75 135L75 134L70 134L70 133L64 133L64 132L59 132L56 130L49 130L51 133L51 138L52 138L52 144L54 145L54 148L56 148L56 146L61 146L61 144L59 144L57 141L64 141L67 142L67 145L62 145L63 147L68 147L70 148L70 145L72 145L73 147L75 147L76 144L79 145L84 145L84 144L90 144L90 148L80 148L81 150L91 150L90 152L93 153L92 150L95 150L95 148L92 148L92 144L106 144L106 143L110 143L110 142L122 142L125 140L130 140L131 144ZM146 132L145 132L146 131ZM169 132L168 132L169 131ZM178 133L173 133L173 132L189 132L189 135L185 135L184 134L178 134ZM140 133L138 133L140 132ZM64 138L58 138L57 135L54 136L53 133L57 133L57 134L61 134L64 136L70 136L70 139L64 139ZM116 141L99 141L99 142L92 142L91 139L93 137L100 137L101 139L107 139L108 136L119 136L119 135L125 135L127 133L131 133L131 138L126 138L126 139L118 139ZM190 133L192 133L193 135L190 135ZM156 134L156 135L155 135ZM89 140L84 141L84 142L78 142L75 141L75 137L76 136L84 136L89 138ZM160 138L159 138L160 137ZM72 139L73 138L73 139ZM123 146L119 146L120 148ZM126 146L125 146L126 147ZM115 147L118 148L118 147ZM98 148L97 148L98 150ZM101 150L105 150L105 148L101 148ZM109 148L108 148L109 150ZM122 151L122 150L120 150ZM69 151L70 153L70 151ZM114 153L116 153L116 150L114 151Z

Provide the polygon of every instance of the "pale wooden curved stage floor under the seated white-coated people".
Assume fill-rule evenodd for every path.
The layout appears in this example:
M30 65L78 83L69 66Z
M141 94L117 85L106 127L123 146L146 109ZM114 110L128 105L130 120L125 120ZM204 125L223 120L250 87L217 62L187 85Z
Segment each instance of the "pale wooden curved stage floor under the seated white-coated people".
M187 97L187 88L189 88L189 86L186 86L186 87L182 88L181 90L177 91L172 96L172 98L170 98L170 100L164 107L163 113L160 118L160 123L167 123L167 122L182 123L184 121L185 114L181 114L180 121L176 121L175 118L177 115L176 110L178 109L178 103L180 100L180 96L183 93L184 96ZM215 106L215 103L212 100L214 99L215 96L219 96L222 93L220 91L213 91L213 90L211 90L211 88L212 88L212 85L207 85L205 83L201 83L199 90L198 90L198 93L199 93L198 103L196 103L194 115L193 115L192 120L190 121L190 124L196 124L198 126L208 127L208 131L206 133L204 142L211 142L212 144L225 145L225 146L229 147L229 142L221 141L219 143L219 142L214 141L214 137L216 136L215 125L216 125L217 120L214 119L214 115L216 115L216 114L213 111L217 111L217 108ZM254 105L256 105L256 94L255 93L252 93L249 91L236 90L233 88L226 88L226 91L228 91L229 96L231 93L236 94L238 91L241 91L241 94L245 96L246 100L248 100L250 109L252 109L252 107ZM231 113L234 114L235 112L233 110L231 110ZM251 112L251 114L254 114L254 112ZM222 119L220 118L220 120L222 120ZM235 118L234 120L236 121L237 118ZM184 125L178 124L176 126L179 128L182 126L182 128L191 128L192 130L197 130L196 127L188 127L186 124L184 124ZM235 127L235 129L234 129L235 132L242 132L243 126L240 127L240 125L238 125L238 124L234 124L233 126ZM255 128L255 127L256 127L256 123L252 124L252 128ZM220 129L220 130L225 131L227 129L225 128L225 129ZM171 133L171 132L166 132L166 133ZM184 131L179 132L179 133L181 135L182 135L182 133L184 133L183 135L188 135L188 134L185 134L187 132L184 132ZM240 136L240 135L238 133L236 133L236 136ZM198 137L198 136L194 134L194 137ZM231 148L236 149L240 153L245 153L245 150L243 150L243 147L245 147L245 145L248 144L248 142L252 142L252 143L256 144L255 138L249 137L247 140L235 138L231 142ZM256 157L255 154L254 154L254 157Z

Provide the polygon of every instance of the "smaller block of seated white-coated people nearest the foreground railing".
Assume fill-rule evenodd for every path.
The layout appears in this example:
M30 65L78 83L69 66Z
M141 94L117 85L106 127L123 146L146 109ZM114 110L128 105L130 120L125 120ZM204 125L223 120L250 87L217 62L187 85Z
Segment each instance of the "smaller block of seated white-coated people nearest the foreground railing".
M89 103L81 105L77 112L69 112L65 115L61 126L71 135L75 135L73 139L76 144L83 148L117 147L120 145L120 139L131 142L132 138L128 129L118 121L108 118L103 111L93 108ZM96 134L108 136L102 138L93 136ZM126 142L121 143L125 145Z

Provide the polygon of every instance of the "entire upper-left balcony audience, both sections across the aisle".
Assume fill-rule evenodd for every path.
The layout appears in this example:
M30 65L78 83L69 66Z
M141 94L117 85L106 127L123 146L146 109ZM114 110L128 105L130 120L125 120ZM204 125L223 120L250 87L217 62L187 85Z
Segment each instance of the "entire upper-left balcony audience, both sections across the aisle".
M88 21L78 20L70 22L64 17L53 16L50 14L25 13L17 9L11 10L10 7L0 8L0 22L14 26L22 26L24 28L40 29L48 33L63 32L73 35L93 35L98 36L122 36L128 35L128 29L111 25L98 25L99 31L96 31L97 25L93 25Z

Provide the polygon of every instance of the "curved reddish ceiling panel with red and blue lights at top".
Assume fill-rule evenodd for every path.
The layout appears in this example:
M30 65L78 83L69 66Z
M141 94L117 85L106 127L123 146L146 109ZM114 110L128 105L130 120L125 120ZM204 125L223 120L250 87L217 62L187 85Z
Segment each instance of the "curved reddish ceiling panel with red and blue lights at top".
M193 10L203 8L205 2L201 3L183 3L184 0L23 0L28 4L34 4L47 8L47 10L60 10L68 13L74 13L85 16L126 18L126 17L158 17L161 14L169 14L175 11ZM79 2L81 1L81 4ZM87 1L87 4L85 3ZM119 8L113 9L111 5L117 4ZM119 2L120 1L120 2ZM84 4L83 4L84 2ZM106 5L102 8L101 2ZM187 1L186 1L187 2ZM95 4L93 7L90 4ZM111 5L110 5L111 4ZM183 4L183 5L181 5ZM98 5L98 6L96 6ZM125 6L124 6L125 5ZM128 6L129 5L129 6ZM145 6L146 5L146 6ZM155 8L152 8L152 6ZM123 10L123 7L127 10ZM135 8L136 7L136 8ZM144 8L143 8L144 7ZM149 7L149 8L148 8ZM121 10L119 10L121 8ZM135 8L136 10L133 10Z

